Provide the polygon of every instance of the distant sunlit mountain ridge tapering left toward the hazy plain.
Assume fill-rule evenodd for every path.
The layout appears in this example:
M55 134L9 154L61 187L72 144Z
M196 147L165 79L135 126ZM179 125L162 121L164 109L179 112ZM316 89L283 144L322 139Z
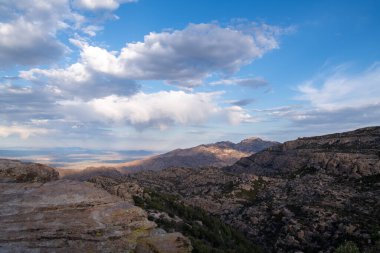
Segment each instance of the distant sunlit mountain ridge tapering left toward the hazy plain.
M279 142L266 141L257 137L242 140L239 143L222 141L204 144L187 149L176 149L164 154L114 166L94 166L85 169L59 169L60 175L67 179L88 180L94 176L116 177L143 170L162 170L171 167L202 168L224 167L234 164L242 157L252 155Z

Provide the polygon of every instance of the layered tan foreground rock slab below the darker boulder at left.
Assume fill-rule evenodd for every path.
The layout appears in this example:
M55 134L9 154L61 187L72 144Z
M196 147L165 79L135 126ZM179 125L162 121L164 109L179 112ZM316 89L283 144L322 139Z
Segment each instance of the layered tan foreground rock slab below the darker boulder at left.
M3 183L0 192L0 251L122 252L155 227L142 209L90 183Z

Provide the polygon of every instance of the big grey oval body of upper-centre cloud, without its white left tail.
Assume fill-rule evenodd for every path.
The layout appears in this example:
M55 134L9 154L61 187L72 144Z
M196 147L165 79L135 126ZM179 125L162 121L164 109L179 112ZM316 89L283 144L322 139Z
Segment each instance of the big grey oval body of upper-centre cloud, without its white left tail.
M120 59L134 79L194 86L214 72L234 73L277 46L267 47L254 34L216 24L190 24L184 30L150 33L144 42L129 43Z

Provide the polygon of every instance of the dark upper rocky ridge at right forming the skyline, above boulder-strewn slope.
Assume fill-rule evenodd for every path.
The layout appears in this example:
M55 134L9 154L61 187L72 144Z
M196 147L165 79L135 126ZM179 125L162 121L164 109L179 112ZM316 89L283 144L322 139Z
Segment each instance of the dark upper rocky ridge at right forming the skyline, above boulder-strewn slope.
M353 178L380 173L380 127L299 138L242 158L225 170L255 175L285 175L323 170Z

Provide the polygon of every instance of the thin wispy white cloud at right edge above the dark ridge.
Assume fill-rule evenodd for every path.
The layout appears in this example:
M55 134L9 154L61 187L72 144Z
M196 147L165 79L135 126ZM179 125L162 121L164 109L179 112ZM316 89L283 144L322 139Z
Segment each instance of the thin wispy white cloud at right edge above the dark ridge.
M380 65L347 74L338 67L330 74L298 86L298 100L307 103L262 110L275 120L288 119L292 127L316 134L380 124ZM316 130L317 129L317 130Z

